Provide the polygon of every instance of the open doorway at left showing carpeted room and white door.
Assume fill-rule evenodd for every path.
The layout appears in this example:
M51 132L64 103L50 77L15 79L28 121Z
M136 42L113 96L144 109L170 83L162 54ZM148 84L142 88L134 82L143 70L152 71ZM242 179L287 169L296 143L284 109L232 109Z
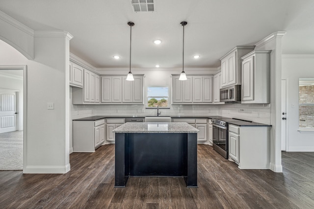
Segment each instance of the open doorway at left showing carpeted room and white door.
M0 170L23 170L26 66L0 66Z

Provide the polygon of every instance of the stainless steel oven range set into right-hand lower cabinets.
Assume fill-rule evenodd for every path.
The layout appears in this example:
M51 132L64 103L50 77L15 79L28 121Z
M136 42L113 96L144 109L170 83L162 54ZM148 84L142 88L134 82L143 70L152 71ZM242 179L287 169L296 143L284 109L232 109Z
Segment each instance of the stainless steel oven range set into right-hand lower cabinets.
M212 146L220 155L228 159L228 122L212 119Z

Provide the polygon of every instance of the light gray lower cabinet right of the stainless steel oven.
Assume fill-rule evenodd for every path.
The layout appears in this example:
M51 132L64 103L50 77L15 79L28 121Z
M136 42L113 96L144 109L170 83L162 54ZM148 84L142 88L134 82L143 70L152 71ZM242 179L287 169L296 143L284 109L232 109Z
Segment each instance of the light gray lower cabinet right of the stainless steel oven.
M269 169L269 126L229 124L229 158L240 169Z

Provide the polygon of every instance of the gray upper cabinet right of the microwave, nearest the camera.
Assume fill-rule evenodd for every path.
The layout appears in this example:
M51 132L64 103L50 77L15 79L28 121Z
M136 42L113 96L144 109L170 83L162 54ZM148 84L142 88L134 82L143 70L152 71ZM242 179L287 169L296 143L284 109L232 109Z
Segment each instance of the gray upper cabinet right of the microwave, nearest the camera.
M241 57L242 104L268 104L270 102L270 52L255 50Z

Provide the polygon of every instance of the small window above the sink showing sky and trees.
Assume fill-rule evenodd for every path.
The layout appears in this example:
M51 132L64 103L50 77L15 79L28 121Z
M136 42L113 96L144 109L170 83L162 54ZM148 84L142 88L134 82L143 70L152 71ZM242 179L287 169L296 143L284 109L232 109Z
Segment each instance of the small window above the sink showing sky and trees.
M169 88L167 86L147 87L147 108L169 108Z

